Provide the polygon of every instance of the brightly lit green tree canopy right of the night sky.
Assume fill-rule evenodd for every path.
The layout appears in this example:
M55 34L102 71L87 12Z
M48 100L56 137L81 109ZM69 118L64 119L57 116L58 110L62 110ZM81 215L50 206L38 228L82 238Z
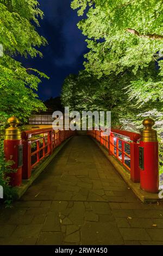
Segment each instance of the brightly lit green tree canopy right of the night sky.
M121 113L117 118L121 121L131 118L141 123L143 116L151 115L161 124L162 1L73 0L71 7L83 16L78 27L87 36L86 74L96 77L97 92L105 81L105 94L117 98L114 109L105 99L108 110L114 112L119 108ZM86 85L80 83L80 86L86 97Z

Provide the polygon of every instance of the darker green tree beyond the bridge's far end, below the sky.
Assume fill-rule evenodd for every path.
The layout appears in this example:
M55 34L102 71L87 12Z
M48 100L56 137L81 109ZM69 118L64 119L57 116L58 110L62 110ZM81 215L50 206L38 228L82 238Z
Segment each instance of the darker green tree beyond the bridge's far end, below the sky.
M126 75L123 76L124 83L125 79ZM113 83L117 86L112 86ZM98 79L95 75L80 71L79 75L70 75L66 78L61 100L64 106L79 112L109 110L112 112L112 122L116 125L123 115L120 106L122 109L127 103L127 95L121 93L122 88L118 76Z

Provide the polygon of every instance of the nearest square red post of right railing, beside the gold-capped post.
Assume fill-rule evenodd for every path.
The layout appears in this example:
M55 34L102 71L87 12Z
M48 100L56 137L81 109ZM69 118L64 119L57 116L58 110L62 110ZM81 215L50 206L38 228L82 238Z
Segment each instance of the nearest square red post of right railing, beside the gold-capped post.
M130 178L133 182L140 182L139 143L130 143Z

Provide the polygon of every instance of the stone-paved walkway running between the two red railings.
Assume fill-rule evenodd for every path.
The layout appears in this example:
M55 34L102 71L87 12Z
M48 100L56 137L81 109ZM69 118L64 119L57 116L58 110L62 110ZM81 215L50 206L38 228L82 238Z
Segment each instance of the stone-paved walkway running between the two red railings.
M73 137L0 213L1 245L163 244L163 206L143 205L86 136Z

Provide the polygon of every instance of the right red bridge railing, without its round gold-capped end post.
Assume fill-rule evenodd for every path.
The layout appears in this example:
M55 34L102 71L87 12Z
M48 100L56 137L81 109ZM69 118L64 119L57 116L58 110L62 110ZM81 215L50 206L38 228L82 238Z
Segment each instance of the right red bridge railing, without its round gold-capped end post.
M134 182L140 181L140 168L139 168L139 139L140 134L136 132L129 132L119 129L111 129L110 135L103 136L102 131L87 131L87 134L100 142L103 147L108 150L109 155L115 156L124 167L130 171L130 178ZM130 142L116 135L126 136ZM126 151L126 145L129 147L129 152Z

